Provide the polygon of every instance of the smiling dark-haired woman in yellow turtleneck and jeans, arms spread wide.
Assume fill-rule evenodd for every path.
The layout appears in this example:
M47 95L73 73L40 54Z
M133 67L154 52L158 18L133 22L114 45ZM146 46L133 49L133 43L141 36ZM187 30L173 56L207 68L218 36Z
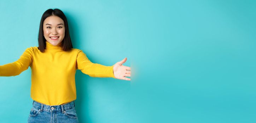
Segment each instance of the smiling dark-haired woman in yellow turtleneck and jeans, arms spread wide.
M16 76L31 68L31 108L29 123L77 123L75 110L75 73L81 70L91 77L130 80L127 58L113 66L90 62L86 54L73 48L68 21L59 9L42 15L39 47L30 47L13 63L0 66L0 76Z

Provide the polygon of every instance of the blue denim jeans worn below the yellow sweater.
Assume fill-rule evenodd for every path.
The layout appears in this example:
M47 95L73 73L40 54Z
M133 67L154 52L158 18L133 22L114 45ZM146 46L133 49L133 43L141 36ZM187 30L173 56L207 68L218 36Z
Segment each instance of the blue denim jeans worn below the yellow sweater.
M28 123L78 123L75 101L53 106L33 101Z

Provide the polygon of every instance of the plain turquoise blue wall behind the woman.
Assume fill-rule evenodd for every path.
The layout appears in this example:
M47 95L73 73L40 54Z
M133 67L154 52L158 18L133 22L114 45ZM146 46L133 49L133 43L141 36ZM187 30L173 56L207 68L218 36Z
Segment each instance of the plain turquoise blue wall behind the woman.
M37 46L41 15L61 9L75 48L94 63L124 57L132 80L77 71L84 123L255 123L253 0L0 1L0 65ZM27 122L30 68L0 77L0 122Z

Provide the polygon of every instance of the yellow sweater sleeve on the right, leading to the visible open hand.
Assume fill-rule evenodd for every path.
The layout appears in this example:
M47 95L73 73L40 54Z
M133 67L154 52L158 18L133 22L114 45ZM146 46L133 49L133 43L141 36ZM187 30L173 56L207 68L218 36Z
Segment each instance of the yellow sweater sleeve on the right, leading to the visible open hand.
M104 66L101 64L92 63L86 54L78 50L77 54L77 69L91 77L114 77L113 66Z

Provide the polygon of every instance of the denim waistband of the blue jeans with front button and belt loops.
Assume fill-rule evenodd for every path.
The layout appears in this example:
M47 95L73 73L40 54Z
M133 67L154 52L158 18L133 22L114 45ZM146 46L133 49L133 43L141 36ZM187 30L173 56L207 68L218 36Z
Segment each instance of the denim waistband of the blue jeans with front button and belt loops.
M42 104L36 101L33 101L33 106L36 109L39 109L39 111L48 111L48 112L58 112L58 111L66 111L69 110L73 107L75 107L75 101L69 102L67 104L62 104L62 105L46 105L46 104Z

